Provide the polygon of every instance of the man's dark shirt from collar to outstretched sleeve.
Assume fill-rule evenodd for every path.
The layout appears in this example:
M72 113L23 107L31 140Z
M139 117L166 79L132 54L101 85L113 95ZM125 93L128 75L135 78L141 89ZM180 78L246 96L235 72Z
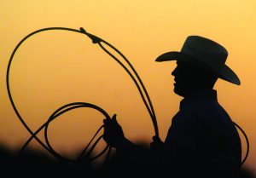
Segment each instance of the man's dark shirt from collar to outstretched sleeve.
M143 177L236 178L241 141L218 103L217 91L200 90L180 102L158 152L147 152L125 139L117 147L117 155L120 162L115 169L129 177L140 173Z

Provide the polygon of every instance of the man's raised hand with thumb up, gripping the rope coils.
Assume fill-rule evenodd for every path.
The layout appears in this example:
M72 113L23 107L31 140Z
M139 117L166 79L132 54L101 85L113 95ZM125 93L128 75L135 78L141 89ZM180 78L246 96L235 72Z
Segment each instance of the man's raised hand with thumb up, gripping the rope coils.
M125 140L123 129L116 120L116 114L113 115L112 119L104 119L103 123L103 139L109 146L117 147L121 141Z

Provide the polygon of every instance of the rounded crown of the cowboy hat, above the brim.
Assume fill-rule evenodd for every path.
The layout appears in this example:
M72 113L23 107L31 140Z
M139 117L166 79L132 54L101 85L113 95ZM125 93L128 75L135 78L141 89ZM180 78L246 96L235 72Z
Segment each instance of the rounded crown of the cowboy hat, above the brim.
M214 68L224 66L228 57L228 51L222 45L200 36L187 37L181 53L195 57Z

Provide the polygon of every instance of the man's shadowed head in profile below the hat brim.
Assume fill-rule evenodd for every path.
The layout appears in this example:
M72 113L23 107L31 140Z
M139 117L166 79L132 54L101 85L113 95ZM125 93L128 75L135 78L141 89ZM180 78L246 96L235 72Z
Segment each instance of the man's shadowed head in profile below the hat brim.
M217 78L212 78L207 72L203 72L193 66L177 62L173 70L174 93L183 97L190 95L198 89L212 88Z

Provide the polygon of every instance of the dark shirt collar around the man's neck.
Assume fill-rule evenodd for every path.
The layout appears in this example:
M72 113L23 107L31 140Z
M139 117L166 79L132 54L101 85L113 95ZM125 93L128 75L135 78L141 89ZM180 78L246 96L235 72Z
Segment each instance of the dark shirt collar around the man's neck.
M202 89L202 90L196 91L195 93L185 97L183 100L180 101L179 109L182 109L183 106L188 105L191 101L206 99L206 98L218 100L217 91L215 89Z

